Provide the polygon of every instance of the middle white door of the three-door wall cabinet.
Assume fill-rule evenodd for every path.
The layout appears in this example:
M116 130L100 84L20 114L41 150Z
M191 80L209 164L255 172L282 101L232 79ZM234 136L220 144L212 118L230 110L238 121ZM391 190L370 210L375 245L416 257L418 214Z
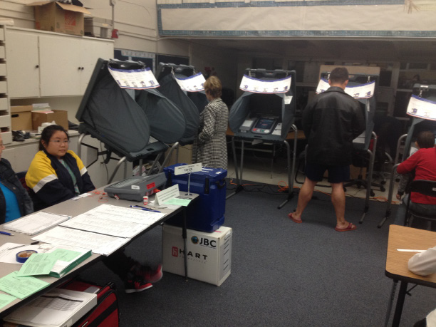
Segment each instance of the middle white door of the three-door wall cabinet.
M41 96L81 95L80 39L39 36Z

